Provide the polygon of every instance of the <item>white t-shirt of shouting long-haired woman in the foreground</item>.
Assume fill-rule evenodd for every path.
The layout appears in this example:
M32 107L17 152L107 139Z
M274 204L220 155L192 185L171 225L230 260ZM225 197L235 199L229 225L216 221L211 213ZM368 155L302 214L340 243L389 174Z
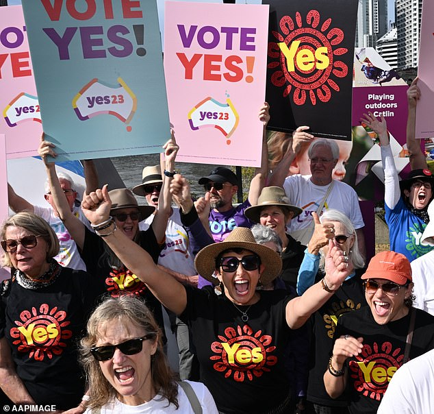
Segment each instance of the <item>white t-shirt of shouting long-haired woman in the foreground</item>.
M216 403L214 402L211 393L201 382L188 381L192 386L194 393L201 404L203 414L218 414ZM101 407L101 414L194 414L190 401L186 393L178 385L178 404L179 409L174 404L168 405L168 400L162 398L161 395L156 395L153 400L140 405L126 405L115 398L111 402L107 402ZM94 414L93 411L87 409L84 414Z

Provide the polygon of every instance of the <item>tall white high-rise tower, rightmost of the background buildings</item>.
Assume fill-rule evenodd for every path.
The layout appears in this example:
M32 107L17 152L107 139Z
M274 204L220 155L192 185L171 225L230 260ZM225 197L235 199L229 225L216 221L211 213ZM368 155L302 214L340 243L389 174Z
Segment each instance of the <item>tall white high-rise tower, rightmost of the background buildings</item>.
M395 5L398 68L418 66L422 0L396 0Z

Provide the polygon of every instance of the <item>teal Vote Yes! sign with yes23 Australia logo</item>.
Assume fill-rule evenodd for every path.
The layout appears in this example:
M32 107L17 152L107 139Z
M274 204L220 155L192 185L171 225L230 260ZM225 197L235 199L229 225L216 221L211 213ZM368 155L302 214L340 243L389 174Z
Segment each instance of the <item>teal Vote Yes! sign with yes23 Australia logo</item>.
M58 160L159 152L170 137L155 0L23 0Z

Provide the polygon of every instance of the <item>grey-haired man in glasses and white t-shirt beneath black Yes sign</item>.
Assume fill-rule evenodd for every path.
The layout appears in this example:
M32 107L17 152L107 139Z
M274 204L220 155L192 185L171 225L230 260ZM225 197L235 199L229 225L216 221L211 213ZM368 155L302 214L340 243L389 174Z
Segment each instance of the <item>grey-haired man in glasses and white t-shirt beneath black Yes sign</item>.
M292 203L303 208L301 215L288 224L288 232L294 239L307 245L315 228L312 213L321 215L324 210L335 208L342 211L353 223L359 239L359 249L365 256L365 223L357 193L345 182L333 179L333 169L340 158L340 149L335 140L317 138L311 142L307 149L310 175L294 174L287 177L288 165L295 157L294 151L289 148L287 156L273 170L268 182L270 185L282 186Z

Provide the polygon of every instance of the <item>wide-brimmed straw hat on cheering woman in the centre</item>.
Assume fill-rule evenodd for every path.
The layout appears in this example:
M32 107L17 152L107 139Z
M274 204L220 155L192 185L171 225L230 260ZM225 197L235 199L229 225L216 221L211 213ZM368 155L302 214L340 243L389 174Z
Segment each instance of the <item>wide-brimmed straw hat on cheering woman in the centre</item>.
M270 247L256 243L251 230L245 227L234 228L221 243L214 243L201 249L194 260L196 270L206 280L215 282L213 273L216 270L217 256L221 252L233 248L249 250L261 258L261 263L265 266L260 277L262 284L272 282L281 273L282 259L280 255Z

